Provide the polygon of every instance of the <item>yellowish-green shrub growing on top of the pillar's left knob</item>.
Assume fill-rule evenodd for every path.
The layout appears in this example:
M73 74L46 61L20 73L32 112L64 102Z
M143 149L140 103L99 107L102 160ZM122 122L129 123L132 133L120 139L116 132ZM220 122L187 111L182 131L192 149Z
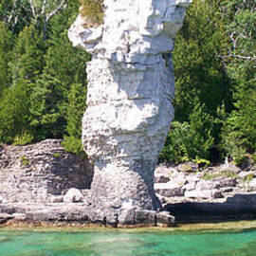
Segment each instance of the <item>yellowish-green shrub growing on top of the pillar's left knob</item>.
M101 24L103 22L103 0L80 0L82 4L82 17L87 18L87 22Z

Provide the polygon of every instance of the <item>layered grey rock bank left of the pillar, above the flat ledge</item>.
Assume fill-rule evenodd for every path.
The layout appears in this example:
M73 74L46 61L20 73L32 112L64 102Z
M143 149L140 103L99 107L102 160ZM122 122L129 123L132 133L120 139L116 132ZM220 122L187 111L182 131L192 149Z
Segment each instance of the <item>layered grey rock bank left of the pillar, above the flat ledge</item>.
M92 177L88 160L66 153L62 139L0 148L0 196L5 203L46 204L71 188L89 189Z

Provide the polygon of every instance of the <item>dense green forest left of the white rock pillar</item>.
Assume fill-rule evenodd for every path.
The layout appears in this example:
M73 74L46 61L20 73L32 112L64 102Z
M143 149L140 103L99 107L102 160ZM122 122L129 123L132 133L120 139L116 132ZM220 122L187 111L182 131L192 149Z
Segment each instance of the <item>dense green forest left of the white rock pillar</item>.
M90 56L67 38L79 7L76 0L0 3L0 141L64 137L67 151L82 151Z

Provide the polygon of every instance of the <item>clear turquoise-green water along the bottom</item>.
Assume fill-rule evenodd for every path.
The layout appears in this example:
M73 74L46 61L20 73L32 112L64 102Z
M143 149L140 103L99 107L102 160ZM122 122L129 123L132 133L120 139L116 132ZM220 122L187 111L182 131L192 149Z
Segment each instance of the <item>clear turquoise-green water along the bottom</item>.
M255 256L256 230L5 231L1 256Z

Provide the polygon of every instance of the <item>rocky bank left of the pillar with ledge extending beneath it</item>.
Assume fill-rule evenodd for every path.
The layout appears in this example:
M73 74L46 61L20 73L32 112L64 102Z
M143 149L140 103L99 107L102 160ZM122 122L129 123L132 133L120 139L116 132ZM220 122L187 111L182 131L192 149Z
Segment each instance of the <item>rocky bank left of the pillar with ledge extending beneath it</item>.
M79 225L172 226L169 212L122 209L119 215L93 207L88 160L66 153L61 139L0 148L0 225L46 222ZM103 211L102 211L103 212Z

